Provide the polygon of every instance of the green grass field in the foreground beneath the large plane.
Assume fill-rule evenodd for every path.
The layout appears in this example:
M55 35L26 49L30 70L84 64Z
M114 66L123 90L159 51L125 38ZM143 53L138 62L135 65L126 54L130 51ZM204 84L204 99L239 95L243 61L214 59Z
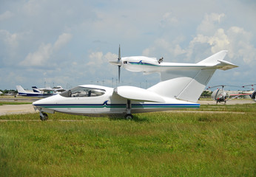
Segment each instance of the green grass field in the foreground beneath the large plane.
M0 176L256 176L256 104L198 111L1 116Z

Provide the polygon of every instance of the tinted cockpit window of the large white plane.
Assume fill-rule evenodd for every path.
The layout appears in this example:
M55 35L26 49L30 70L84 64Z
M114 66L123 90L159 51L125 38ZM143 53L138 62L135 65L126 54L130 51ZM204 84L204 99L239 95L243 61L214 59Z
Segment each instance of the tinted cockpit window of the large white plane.
M62 92L62 97L98 97L105 94L104 89L95 89L87 87L75 87L73 89Z

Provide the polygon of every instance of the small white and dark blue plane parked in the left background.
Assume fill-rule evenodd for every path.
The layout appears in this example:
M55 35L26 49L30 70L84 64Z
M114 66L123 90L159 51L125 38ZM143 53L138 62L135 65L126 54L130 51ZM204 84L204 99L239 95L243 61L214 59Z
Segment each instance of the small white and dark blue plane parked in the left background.
M19 96L23 97L50 97L55 94L54 91L40 91L37 88L32 87L33 91L27 91L22 86L16 86Z

